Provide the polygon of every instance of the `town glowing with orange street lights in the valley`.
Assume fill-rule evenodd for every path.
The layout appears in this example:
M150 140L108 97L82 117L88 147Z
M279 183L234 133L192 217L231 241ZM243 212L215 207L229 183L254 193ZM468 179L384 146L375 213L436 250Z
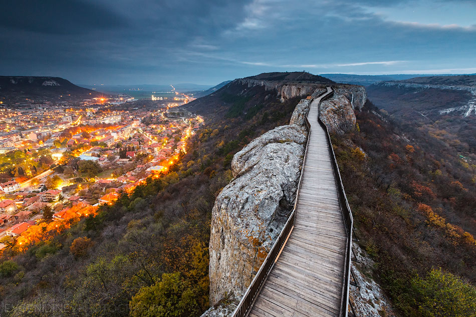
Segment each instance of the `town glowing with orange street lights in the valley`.
M0 109L0 249L68 228L166 174L203 124L173 111L193 100L175 95L146 105L119 95Z

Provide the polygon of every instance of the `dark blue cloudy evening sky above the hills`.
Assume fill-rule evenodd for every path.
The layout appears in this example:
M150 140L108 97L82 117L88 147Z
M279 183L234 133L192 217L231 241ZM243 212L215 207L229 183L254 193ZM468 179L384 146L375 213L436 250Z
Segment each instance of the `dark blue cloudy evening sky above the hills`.
M475 0L15 0L0 75L216 85L263 72L476 73Z

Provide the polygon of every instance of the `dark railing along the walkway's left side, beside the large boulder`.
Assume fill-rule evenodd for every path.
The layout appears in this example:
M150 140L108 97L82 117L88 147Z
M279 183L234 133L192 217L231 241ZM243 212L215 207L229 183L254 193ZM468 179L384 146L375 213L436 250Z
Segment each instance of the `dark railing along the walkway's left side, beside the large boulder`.
M325 93L327 93L327 91L320 93L318 96L322 96ZM311 110L311 103L312 101L309 102L309 109L306 112L306 116L305 116L306 125L308 127L308 138L306 141L306 148L304 150L303 165L301 169L301 175L299 176L298 188L296 190L296 198L294 200L293 210L291 211L291 215L289 216L288 221L286 221L286 224L284 225L283 230L281 230L281 233L278 236L278 239L276 239L276 242L273 244L273 246L271 247L271 250L268 252L268 255L266 256L265 260L261 264L260 269L258 270L255 277L251 281L250 286L248 286L245 294L243 295L242 299L240 300L235 310L233 311L233 314L231 315L232 317L245 317L248 314L250 308L253 306L253 303L255 302L255 299L258 293L261 290L261 287L263 286L266 279L268 278L268 275L275 264L276 257L278 256L279 251L283 247L289 233L291 232L291 228L294 226L294 219L296 217L296 206L298 205L299 190L301 189L301 182L302 182L303 174L304 174L304 164L306 162L306 157L308 153L309 136L311 135L311 124L309 123L309 120L307 118L309 111Z

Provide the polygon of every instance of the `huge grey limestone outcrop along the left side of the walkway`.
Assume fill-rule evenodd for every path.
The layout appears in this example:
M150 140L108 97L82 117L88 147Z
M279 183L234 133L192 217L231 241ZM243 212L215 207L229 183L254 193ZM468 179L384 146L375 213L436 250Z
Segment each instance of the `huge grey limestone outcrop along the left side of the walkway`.
M212 211L211 304L241 299L288 219L304 156L309 105L309 100L301 101L292 124L268 131L233 157L234 179Z

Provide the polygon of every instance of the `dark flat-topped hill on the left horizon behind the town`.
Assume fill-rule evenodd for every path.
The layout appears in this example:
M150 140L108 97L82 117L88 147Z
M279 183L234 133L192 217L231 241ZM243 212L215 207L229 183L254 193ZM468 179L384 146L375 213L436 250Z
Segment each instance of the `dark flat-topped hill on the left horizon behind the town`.
M102 96L94 90L79 87L60 77L0 76L0 97L15 101L21 99L57 100Z

